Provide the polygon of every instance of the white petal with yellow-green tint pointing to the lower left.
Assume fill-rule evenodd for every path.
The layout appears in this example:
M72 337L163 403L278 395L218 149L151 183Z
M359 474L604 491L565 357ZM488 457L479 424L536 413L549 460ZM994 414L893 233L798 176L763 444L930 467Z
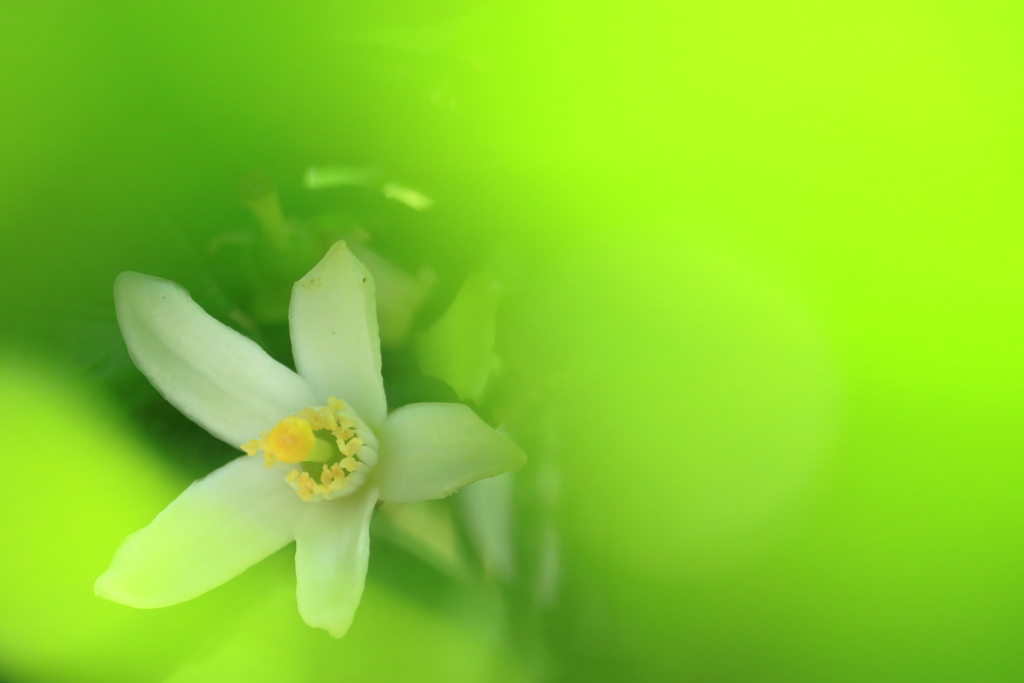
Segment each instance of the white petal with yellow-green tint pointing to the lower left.
M193 483L132 533L96 580L96 595L132 607L165 607L220 586L294 538L307 504L243 456Z

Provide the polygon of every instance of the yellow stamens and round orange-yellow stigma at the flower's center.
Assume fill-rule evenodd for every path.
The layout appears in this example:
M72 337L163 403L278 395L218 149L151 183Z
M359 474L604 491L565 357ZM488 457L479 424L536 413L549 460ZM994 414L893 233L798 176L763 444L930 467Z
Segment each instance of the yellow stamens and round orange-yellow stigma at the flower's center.
M263 452L264 465L298 465L285 481L306 502L331 501L354 493L377 464L377 438L362 420L334 396L327 405L304 408L258 439L242 444L250 456Z

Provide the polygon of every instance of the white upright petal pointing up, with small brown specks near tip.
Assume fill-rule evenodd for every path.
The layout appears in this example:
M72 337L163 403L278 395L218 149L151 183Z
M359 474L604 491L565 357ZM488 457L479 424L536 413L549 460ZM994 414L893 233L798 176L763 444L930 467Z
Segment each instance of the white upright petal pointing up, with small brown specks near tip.
M376 429L387 402L374 301L373 278L339 242L295 283L288 319L299 374L322 401L348 401Z

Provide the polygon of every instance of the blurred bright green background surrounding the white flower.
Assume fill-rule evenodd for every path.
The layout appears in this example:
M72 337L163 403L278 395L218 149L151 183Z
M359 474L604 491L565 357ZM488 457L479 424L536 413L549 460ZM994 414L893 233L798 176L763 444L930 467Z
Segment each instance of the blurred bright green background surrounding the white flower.
M1022 67L987 0L0 2L0 679L1021 680ZM303 186L325 164L436 205ZM114 278L226 315L253 170L434 267L421 328L518 255L532 573L375 540L342 641L289 549L92 596L230 455L130 365Z

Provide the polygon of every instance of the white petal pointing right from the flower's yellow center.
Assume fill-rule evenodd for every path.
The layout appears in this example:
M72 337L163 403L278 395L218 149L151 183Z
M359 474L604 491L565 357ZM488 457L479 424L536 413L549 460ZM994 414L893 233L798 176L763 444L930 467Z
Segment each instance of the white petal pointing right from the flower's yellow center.
M477 479L518 469L526 456L461 403L412 403L387 417L375 479L381 500L444 498Z

